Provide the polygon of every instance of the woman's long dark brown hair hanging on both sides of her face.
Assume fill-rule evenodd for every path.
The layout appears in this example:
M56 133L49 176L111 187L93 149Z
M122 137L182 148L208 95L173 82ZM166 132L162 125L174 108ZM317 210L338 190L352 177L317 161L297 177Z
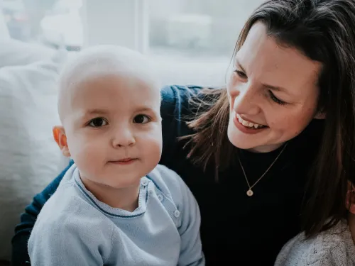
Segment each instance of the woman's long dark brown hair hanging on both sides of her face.
M318 110L326 114L322 145L310 173L310 199L305 212L308 236L334 226L346 216L346 180L355 182L355 0L269 0L251 14L234 54L256 21L266 25L279 45L297 48L322 63ZM226 89L204 89L200 110L189 126L190 157L217 172L234 163L228 140Z

